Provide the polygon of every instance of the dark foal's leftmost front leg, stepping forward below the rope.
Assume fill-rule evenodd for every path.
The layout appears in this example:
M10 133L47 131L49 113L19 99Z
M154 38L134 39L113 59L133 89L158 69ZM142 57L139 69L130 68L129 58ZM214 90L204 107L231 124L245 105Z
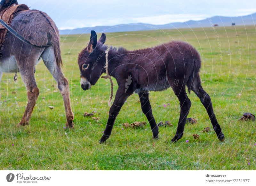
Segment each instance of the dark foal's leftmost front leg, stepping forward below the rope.
M116 117L122 106L124 105L125 100L132 94L132 92L132 88L127 89L126 92L125 89L122 89L120 87L117 89L115 100L109 110L106 128L104 130L103 136L100 138L100 143L105 142L111 135Z

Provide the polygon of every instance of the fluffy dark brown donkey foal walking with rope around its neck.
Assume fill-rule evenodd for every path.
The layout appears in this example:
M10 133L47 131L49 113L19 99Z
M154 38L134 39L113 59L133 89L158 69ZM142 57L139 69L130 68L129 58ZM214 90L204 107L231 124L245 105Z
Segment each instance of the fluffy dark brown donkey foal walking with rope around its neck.
M103 33L97 41L97 34L91 31L88 47L78 56L81 87L90 89L101 74L105 73L106 53L104 45L106 35ZM146 115L153 138L158 138L158 127L152 114L148 91L165 90L171 87L180 101L180 119L172 142L179 140L184 131L191 102L186 93L194 91L204 105L214 131L223 141L224 134L215 117L210 96L204 91L199 77L201 60L194 47L185 42L173 41L153 48L128 51L124 48L109 47L108 72L116 78L118 89L113 105L109 110L108 122L100 143L105 142L112 131L115 119L127 97L138 93L142 112ZM131 77L131 78L129 78ZM132 80L131 82L127 82ZM127 83L129 84L128 86Z

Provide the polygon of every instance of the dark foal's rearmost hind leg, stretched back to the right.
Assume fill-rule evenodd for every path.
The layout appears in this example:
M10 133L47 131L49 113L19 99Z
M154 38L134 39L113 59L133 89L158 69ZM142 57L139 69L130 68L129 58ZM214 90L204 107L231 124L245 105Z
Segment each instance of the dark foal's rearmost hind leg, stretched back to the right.
M216 119L214 112L213 112L211 97L202 88L199 75L197 75L196 79L193 82L192 91L194 91L196 93L196 96L199 97L201 103L204 105L204 108L206 109L206 111L210 117L212 127L213 127L214 131L216 132L218 138L220 139L220 141L224 141L225 136L221 132L220 125Z

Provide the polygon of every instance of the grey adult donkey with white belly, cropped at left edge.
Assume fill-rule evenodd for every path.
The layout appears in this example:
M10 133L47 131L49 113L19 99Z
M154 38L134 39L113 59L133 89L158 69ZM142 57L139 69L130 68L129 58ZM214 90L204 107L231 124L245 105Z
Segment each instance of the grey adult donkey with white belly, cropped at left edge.
M0 78L3 72L20 72L27 89L28 103L25 113L18 126L29 124L29 119L39 95L34 75L35 65L42 58L45 66L58 83L66 111L66 127L73 128L74 114L69 99L68 80L61 72L60 36L53 20L44 12L26 10L18 12L10 25L21 36L35 47L20 41L7 32L5 43L2 45L0 61Z

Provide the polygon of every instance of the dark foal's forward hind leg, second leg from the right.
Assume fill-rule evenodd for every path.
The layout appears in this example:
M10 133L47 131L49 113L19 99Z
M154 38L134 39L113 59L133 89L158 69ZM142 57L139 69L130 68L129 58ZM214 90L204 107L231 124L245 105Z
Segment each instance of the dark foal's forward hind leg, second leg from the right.
M189 109L191 107L191 101L187 96L184 85L175 86L175 87L172 87L172 89L180 101L180 119L179 119L176 134L172 138L172 142L176 142L183 136L187 116L189 113Z

